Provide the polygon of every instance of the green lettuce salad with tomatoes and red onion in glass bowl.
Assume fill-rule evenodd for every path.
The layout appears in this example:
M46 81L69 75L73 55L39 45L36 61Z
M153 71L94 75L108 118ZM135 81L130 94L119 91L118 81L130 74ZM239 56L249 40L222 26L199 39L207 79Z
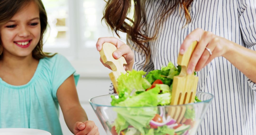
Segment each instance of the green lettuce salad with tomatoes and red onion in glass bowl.
M161 70L127 71L118 78L118 97L112 95L117 118L109 126L113 135L188 135L195 123L195 110L187 107L182 122L176 122L165 112L172 98L173 77L181 67L170 62ZM146 75L145 77L143 77ZM200 100L195 98L195 102ZM156 106L156 107L152 107ZM157 107L163 106L163 107ZM127 108L124 108L127 107ZM129 108L132 107L132 108ZM160 109L159 109L160 108Z

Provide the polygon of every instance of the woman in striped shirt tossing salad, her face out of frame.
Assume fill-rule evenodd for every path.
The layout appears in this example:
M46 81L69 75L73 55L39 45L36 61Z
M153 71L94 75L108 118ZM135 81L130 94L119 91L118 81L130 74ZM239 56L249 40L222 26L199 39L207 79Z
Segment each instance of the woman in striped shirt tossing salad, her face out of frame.
M187 73L196 70L197 90L215 95L198 134L256 134L256 1L133 2L134 20L126 17L131 0L108 1L103 17L117 34L127 33L131 49L105 37L99 38L98 51L111 42L118 48L113 57L123 55L126 70L149 72L169 61L177 65L178 53L197 40Z

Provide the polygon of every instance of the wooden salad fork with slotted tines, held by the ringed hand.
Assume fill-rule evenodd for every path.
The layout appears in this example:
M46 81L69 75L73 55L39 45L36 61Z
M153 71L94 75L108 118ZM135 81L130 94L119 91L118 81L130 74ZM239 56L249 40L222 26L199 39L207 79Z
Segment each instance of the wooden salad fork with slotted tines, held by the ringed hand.
M170 105L182 105L192 103L195 100L198 77L195 76L194 73L188 75L187 66L197 43L197 41L194 41L183 55L178 55L177 63L182 68L180 74L178 76L174 76L173 79L172 99ZM181 121L184 122L186 120L185 118L183 119L185 111L186 107L177 106L170 109L168 114L173 119L177 120L177 123L180 123Z

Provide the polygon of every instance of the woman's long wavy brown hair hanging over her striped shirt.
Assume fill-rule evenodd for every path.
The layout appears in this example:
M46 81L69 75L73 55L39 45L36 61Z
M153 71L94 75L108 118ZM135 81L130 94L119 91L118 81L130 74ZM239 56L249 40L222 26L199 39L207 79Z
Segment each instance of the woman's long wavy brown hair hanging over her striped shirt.
M185 11L185 17L187 19L186 24L191 21L188 7L193 0L161 0L159 9L160 15L157 17L155 25L158 27L154 33L153 37L147 37L140 33L141 27L144 25L146 20L145 15L145 3L146 1L151 0L133 0L134 2L134 19L128 18L127 14L129 13L132 5L132 0L109 0L106 2L106 6L103 12L103 18L106 24L110 27L112 31L119 36L118 31L127 33L126 40L130 39L137 44L139 49L147 54L150 53L150 50L142 44L149 40L153 40L159 30L159 27L163 23L163 20L168 16L172 10L180 4ZM125 19L131 22L131 25L125 22ZM120 36L119 36L120 37ZM128 41L127 41L128 43Z

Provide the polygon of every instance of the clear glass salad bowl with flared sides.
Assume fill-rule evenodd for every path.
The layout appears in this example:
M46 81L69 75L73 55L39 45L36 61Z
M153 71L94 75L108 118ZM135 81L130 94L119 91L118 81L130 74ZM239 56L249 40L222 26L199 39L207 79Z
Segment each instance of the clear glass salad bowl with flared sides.
M118 98L117 94L112 94ZM175 105L175 106L155 106L155 107L120 107L120 106L111 106L111 95L103 95L91 98L89 100L94 112L98 116L102 126L104 127L108 135L114 134L117 135L114 127L114 121L117 118L118 114L121 114L124 119L129 118L128 122L129 127L126 128L129 130L129 134L143 135L142 130L137 129L138 124L142 124L141 118L145 118L148 113L155 113L154 120L149 120L146 125L146 128L149 130L154 128L154 131L157 128L167 126L170 129L173 129L177 135L194 135L197 133L199 126L201 125L202 120L208 110L212 99L214 96L209 93L197 92L196 96L202 102L189 103L184 105ZM142 112L145 112L144 114ZM128 114L123 115L123 114ZM134 118L132 118L134 116ZM161 116L157 120L157 116ZM133 120L131 121L132 118ZM166 128L167 128L166 127ZM130 128L130 129L129 129ZM134 131L134 128L137 129ZM128 130L125 130L126 133ZM142 131L142 132L140 132ZM133 132L133 133L132 133ZM120 133L124 135L124 132ZM128 133L127 133L128 134ZM168 133L167 133L168 134ZM174 134L174 133L170 133ZM125 134L126 135L126 134Z

